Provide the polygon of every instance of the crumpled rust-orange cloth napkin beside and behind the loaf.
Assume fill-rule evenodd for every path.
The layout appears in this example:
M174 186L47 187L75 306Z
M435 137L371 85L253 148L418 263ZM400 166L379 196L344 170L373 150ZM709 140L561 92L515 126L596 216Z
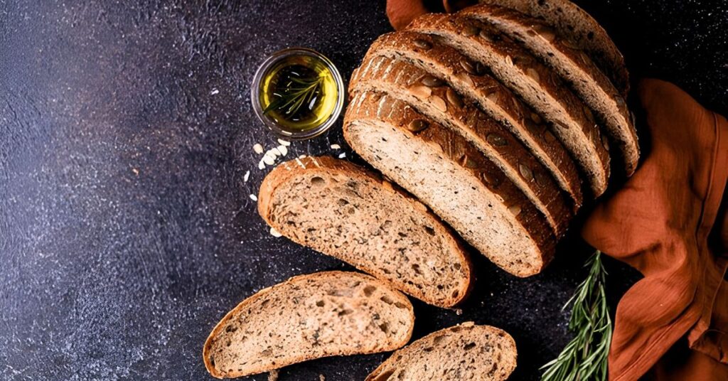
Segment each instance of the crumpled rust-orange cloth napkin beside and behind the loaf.
M472 2L388 0L387 16L398 29ZM728 122L667 82L638 93L644 162L582 230L645 276L617 307L609 380L728 380Z

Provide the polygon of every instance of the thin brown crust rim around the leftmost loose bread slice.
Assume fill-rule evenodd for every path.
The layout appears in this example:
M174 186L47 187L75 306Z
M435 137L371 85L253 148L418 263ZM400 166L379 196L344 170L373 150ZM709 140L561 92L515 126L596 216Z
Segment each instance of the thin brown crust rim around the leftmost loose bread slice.
M275 286L266 287L262 290L256 292L252 296L249 296L247 299L240 302L239 305L234 307L232 310L230 310L226 315L221 319L220 322L218 322L215 325L215 328L213 328L213 331L210 332L210 335L207 337L207 340L205 340L205 345L202 348L202 359L205 362L205 369L207 369L207 372L210 373L215 378L222 379L222 378L234 378L234 377L243 377L248 376L251 374L258 374L262 372L269 372L273 369L280 369L283 366L288 366L290 364L296 364L301 361L306 360L312 360L313 358L318 357L306 357L306 356L298 356L296 358L290 358L288 361L282 361L278 364L275 364L273 367L261 367L258 366L257 368L253 367L252 369L249 369L247 372L230 372L226 374L222 374L215 369L215 366L210 361L210 348L213 345L213 342L216 337L218 337L218 334L221 333L221 331L225 327L225 323L230 321L232 318L236 317L242 310L245 310L245 307L250 305L251 303L255 302L257 299L264 298L266 295L271 294L273 291L276 291L279 288L286 288L290 285L297 284L297 283L304 283L305 280L311 280L315 278L325 279L325 278L334 278L336 280L341 280L341 278L348 277L348 278L354 278L356 280L360 280L362 282L370 282L370 283L376 283L377 285L381 286L384 289L387 289L389 291L389 296L392 296L394 298L394 302L402 303L405 305L406 310L408 310L408 321L405 323L408 323L408 331L405 335L403 335L403 339L401 339L398 342L391 342L391 343L384 343L383 345L380 345L379 347L376 347L374 350L368 350L368 351L361 351L361 350L355 350L353 348L349 348L348 350L343 350L337 353L333 353L331 355L325 355L325 356L347 356L347 355L357 355L357 354L369 354L369 353L379 353L379 352L386 352L389 350L395 350L399 347L402 347L403 345L407 344L409 339L412 336L412 329L414 329L414 310L412 307L412 304L410 303L409 299L407 299L406 296L401 294L399 291L396 291L393 288L389 288L387 283L381 282L380 280L377 280L376 278L373 278L369 275L360 274L358 272L344 272L344 271L328 271L328 272L314 272L312 274L306 274L306 275L297 275L292 278L289 278L288 280L285 280L285 282L278 283ZM325 357L320 356L320 357Z

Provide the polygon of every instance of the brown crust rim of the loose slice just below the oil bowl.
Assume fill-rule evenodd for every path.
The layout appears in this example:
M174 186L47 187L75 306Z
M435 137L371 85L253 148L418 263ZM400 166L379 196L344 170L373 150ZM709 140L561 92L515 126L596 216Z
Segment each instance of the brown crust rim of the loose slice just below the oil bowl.
M314 171L320 171L322 173L328 174L343 173L348 178L356 179L357 181L368 182L373 186L389 186L390 188L392 188L392 190L396 192L397 195L403 197L403 201L411 203L414 210L422 211L422 213L430 218L432 220L433 227L435 227L435 229L438 229L439 233L443 235L446 240L449 241L451 252L458 256L458 258L453 258L452 261L453 263L458 262L459 264L461 264L461 269L464 272L464 277L462 282L458 282L462 286L457 290L458 296L454 298L450 297L442 301L428 296L424 293L424 291L416 288L415 286L409 286L408 283L405 282L405 280L401 280L401 282L395 283L393 280L383 278L384 275L377 276L378 271L373 267L363 266L361 264L350 264L357 267L359 270L362 270L363 272L374 275L376 278L383 282L389 283L389 286L392 286L393 288L400 289L400 291L403 291L406 294L410 294L417 299L420 299L431 305L436 305L438 307L454 307L467 297L467 294L470 291L473 283L472 263L469 256L467 256L467 252L462 246L462 243L460 243L459 238L454 234L454 232L452 232L449 227L446 227L446 225L443 224L443 222L440 220L440 217L435 216L434 213L430 212L427 209L427 206L420 203L411 195L405 193L403 189L400 189L398 186L392 186L394 184L390 184L389 181L382 179L378 173L374 173L371 170L367 170L350 162L326 156L302 157L290 160L288 162L282 162L280 165L274 168L270 173L268 173L266 178L264 178L263 183L261 184L260 191L258 192L258 213L269 226L277 229L278 232L281 232L285 235L286 228L281 226L280 224L277 224L270 218L273 211L271 200L277 187L285 184L285 182L287 182L290 178L300 176L304 172ZM290 240L295 241L301 246L310 246L302 240L296 239L296 237L290 237L288 235L286 235L286 237L288 237ZM325 251L322 251L322 248L312 248L314 248L314 250L321 251L323 254L333 256L337 259L341 259L341 257L335 253L327 253Z

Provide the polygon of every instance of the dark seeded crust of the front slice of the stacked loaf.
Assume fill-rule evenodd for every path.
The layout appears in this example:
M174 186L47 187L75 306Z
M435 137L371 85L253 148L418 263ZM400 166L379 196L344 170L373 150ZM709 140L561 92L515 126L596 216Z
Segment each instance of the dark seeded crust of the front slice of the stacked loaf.
M469 170L483 186L501 197L505 207L517 205L521 208L521 212L515 216L515 219L529 233L531 240L540 249L542 264L534 266L534 271L528 273L519 273L506 267L503 267L504 270L511 272L513 275L526 277L537 274L550 262L550 259L553 258L557 240L545 216L523 195L521 189L518 189L510 181L510 178L505 176L505 173L499 170L493 162L483 157L478 149L475 149L475 146L465 141L462 136L419 114L402 101L389 98L381 102L381 98L387 96L384 93L371 91L361 94L355 93L354 96L355 98L352 99L347 108L346 117L344 117L344 138L352 148L357 150L356 144L352 144L352 139L349 137L349 125L366 120L387 123L411 135L412 138L419 138L422 144L439 146L449 160L459 163L463 168ZM379 109L380 103L384 106L384 109ZM406 126L418 119L426 122L429 127L416 134L411 133ZM466 159L462 160L463 157ZM472 163L468 164L468 160L472 160ZM475 243L473 246L478 245ZM488 253L483 254L490 257Z

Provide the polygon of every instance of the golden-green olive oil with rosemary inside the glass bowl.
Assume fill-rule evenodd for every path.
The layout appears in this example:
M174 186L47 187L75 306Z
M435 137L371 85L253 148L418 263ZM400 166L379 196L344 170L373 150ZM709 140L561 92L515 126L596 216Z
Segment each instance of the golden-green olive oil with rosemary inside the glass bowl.
M314 55L289 55L274 63L264 73L258 94L264 116L293 132L320 127L341 97L329 65Z

